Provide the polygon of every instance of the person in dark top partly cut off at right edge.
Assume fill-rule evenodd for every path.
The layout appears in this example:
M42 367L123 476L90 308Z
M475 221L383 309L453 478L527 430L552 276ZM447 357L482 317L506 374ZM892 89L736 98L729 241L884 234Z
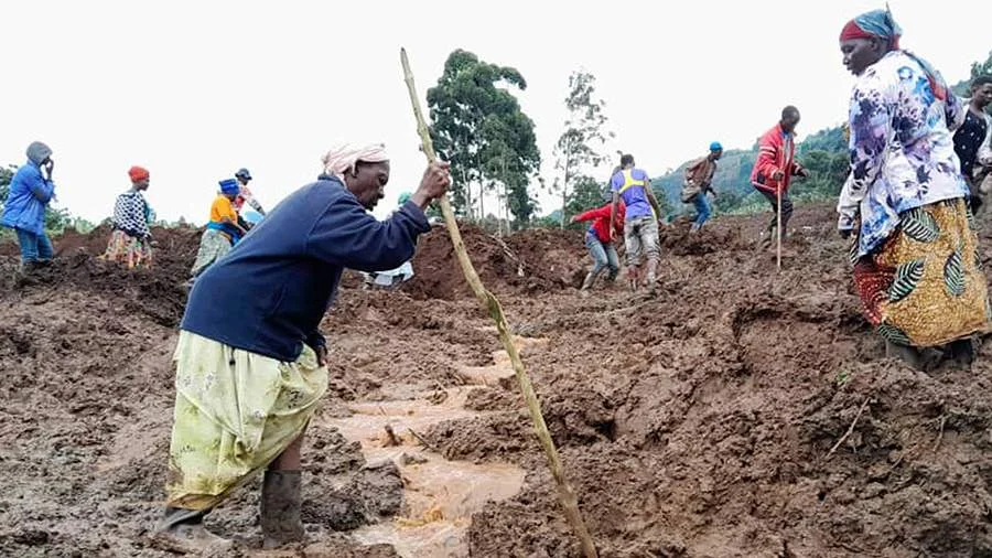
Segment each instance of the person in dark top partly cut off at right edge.
M992 118L985 107L992 104L992 76L979 76L971 82L971 99L964 114L964 124L955 132L955 153L961 160L961 174L968 182L971 211L982 205L980 184L992 165Z

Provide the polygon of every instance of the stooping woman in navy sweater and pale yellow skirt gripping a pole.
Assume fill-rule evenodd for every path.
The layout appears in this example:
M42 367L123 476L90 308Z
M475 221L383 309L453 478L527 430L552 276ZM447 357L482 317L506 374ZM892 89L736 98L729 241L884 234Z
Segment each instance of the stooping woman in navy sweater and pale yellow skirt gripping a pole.
M344 268L382 271L413 256L431 229L424 208L444 194L446 163L430 165L389 219L380 144L342 146L324 173L277 205L197 279L175 351L175 421L160 543L179 551L228 546L203 517L265 471L265 546L301 540L300 447L327 388L319 325Z

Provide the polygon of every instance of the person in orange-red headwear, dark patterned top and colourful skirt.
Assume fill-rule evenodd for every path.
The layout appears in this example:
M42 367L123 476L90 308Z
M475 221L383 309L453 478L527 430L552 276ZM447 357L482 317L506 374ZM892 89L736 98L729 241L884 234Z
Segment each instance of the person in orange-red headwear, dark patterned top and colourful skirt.
M100 259L126 262L128 269L149 267L152 262L151 207L142 192L148 190L151 175L141 167L131 167L128 171L131 187L117 196L114 204L112 229L107 251Z

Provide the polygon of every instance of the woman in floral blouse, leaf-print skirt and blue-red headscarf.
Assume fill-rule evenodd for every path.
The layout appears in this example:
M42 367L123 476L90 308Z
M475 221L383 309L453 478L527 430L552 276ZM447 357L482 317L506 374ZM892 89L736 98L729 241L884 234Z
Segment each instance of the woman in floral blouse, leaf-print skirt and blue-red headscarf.
M930 64L899 49L901 35L888 10L840 34L856 81L838 227L854 236L855 289L888 352L918 368L939 356L970 365L970 337L990 331L992 316L951 139L966 112Z

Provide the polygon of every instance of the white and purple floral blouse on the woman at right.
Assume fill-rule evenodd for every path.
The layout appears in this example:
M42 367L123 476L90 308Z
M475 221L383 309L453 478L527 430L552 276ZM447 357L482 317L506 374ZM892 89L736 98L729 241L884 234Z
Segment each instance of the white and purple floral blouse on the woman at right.
M968 195L951 136L967 108L946 92L937 98L920 62L904 51L883 56L854 85L851 173L837 211L842 230L861 213L859 257L896 230L901 213Z

